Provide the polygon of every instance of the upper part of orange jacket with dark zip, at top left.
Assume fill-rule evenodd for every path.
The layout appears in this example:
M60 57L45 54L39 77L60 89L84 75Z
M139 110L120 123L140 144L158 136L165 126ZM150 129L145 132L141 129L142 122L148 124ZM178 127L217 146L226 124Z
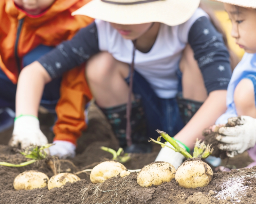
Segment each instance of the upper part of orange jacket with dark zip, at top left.
M13 0L0 1L0 67L14 84L17 83L19 68L22 69L22 57L29 51L41 44L56 46L71 39L80 28L93 21L87 16L71 16L89 1L56 0L37 16L22 11ZM17 55L20 63L16 60Z

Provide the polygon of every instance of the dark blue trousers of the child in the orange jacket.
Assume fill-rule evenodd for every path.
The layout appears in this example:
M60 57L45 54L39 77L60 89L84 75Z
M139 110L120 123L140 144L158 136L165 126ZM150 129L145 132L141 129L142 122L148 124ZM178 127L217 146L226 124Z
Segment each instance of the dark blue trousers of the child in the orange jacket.
M54 47L40 45L30 51L22 59L23 67L36 61L44 54L51 51ZM41 100L41 106L47 108L50 112L55 112L55 106L60 98L60 82L61 77L53 79L51 82L45 85L44 93ZM0 108L11 108L15 111L15 95L17 84L13 84L12 81L5 75L2 69L0 69Z

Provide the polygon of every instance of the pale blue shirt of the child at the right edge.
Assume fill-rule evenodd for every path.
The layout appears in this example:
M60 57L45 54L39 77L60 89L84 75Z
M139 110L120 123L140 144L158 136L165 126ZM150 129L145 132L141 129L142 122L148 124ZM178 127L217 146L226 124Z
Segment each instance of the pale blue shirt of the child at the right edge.
M236 106L234 102L234 92L237 84L246 76L251 73L256 73L256 53L245 53L243 59L238 63L232 73L232 77L228 84L227 90L227 111L222 114L215 122L215 124L225 124L229 118L236 117ZM252 75L255 77L254 75Z

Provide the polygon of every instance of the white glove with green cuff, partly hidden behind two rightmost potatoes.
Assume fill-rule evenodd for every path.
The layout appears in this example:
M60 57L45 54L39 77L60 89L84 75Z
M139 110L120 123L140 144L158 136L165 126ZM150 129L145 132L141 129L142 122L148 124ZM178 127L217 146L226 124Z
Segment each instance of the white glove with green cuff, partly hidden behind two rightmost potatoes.
M172 145L169 142L167 142L166 145L172 147ZM179 145L180 147L185 149L183 145L181 144ZM180 166L184 158L185 157L179 152L175 152L173 149L170 149L169 147L164 147L160 150L159 154L156 157L155 162L157 161L168 162L172 164L175 167L175 169L178 169L178 167Z

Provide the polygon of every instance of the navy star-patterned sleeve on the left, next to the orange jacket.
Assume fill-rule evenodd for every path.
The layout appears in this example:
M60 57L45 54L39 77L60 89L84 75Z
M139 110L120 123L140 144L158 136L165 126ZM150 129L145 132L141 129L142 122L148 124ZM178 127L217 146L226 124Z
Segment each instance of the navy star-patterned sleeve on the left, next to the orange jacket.
M61 77L69 69L86 62L90 56L99 53L98 33L95 22L82 28L68 41L42 56L38 62L53 78Z

